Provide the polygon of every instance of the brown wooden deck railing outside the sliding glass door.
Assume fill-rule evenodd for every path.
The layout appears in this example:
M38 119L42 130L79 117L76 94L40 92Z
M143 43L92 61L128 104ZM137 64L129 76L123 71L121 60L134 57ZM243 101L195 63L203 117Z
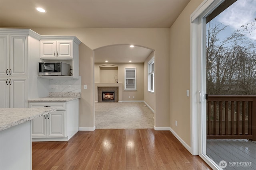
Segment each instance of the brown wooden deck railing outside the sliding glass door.
M256 95L208 95L207 139L256 141Z

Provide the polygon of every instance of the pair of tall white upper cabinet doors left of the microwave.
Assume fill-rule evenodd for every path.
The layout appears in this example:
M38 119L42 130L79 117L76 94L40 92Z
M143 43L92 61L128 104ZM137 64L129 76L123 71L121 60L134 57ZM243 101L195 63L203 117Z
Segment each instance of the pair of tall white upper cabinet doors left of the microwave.
M0 35L0 76L28 77L28 35Z

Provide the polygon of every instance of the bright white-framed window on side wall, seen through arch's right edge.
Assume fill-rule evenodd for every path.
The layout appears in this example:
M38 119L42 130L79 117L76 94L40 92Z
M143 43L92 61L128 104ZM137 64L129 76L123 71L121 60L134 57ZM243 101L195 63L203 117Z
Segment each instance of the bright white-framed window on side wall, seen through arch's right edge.
M153 57L149 62L148 62L148 91L154 92L154 80L155 80L155 58Z

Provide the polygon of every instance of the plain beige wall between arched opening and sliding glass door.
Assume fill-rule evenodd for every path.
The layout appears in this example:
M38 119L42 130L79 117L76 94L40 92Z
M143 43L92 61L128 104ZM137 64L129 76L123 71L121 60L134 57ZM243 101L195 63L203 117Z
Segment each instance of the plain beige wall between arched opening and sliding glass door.
M170 28L170 127L190 146L190 15L202 3L192 0ZM177 120L177 126L175 126Z

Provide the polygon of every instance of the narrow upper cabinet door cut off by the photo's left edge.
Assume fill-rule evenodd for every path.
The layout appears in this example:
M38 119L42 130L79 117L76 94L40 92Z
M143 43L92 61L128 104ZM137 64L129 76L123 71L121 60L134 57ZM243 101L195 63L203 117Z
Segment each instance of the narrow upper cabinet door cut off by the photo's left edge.
M9 34L0 35L0 76L9 76Z

